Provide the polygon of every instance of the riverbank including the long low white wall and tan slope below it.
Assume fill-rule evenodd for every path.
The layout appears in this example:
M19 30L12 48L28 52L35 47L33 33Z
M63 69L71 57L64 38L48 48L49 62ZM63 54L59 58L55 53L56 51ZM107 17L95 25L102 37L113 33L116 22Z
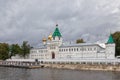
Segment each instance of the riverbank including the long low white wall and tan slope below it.
M5 65L19 66L40 66L42 68L58 68L72 70L102 70L102 71L120 71L120 59L79 59L79 60L38 60L34 59L12 59L2 61Z

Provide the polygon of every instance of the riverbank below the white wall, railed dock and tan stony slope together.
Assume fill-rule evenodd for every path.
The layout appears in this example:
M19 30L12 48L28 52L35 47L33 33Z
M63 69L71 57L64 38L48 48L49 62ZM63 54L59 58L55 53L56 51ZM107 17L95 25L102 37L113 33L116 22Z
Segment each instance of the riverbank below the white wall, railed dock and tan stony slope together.
M36 62L8 62L2 61L0 67L14 67L14 68L57 68L57 69L71 69L71 70L101 70L101 71L120 71L119 64L84 64L84 63L36 63Z

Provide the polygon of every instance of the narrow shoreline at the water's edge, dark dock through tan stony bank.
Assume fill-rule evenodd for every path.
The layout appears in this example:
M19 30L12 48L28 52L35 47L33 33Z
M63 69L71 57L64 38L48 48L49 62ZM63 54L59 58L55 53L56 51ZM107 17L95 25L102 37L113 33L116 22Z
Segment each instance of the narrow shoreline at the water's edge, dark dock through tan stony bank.
M69 69L69 70L89 70L89 71L120 71L120 65L108 65L108 64L41 64L41 65L0 65L0 67L11 68L26 68L26 69L38 69L38 68L53 68L53 69Z

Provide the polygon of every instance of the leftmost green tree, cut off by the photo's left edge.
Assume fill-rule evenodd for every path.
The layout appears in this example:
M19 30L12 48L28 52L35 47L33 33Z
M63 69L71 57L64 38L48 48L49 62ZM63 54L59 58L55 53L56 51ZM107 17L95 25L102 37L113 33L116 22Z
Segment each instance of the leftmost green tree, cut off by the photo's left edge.
M5 60L9 58L9 45L7 43L0 43L0 59Z

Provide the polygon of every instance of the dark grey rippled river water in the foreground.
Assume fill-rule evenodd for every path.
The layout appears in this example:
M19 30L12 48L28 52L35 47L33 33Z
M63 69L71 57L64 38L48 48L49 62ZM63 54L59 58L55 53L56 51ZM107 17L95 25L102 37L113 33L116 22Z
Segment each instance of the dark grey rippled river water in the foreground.
M0 67L0 80L120 80L120 72Z

